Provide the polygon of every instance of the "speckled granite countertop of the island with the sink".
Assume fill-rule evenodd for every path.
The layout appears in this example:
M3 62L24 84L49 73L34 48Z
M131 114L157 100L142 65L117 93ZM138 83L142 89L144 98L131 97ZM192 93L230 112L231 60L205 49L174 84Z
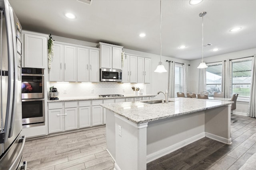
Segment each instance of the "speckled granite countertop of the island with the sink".
M169 101L171 102L168 104L121 102L115 104L100 104L100 106L113 111L117 115L120 115L133 123L140 124L233 103L228 101L197 98L169 98Z

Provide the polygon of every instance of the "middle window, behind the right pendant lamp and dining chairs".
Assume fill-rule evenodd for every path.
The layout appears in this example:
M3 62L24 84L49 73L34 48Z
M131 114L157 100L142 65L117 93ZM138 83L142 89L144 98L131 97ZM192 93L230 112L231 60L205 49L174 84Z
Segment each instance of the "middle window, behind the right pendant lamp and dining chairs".
M206 68L206 91L208 96L221 92L222 63L214 63Z

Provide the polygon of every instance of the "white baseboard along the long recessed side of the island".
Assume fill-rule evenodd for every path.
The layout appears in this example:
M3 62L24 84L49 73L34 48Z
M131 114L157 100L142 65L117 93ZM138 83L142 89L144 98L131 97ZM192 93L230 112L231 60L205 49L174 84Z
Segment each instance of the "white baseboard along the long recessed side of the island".
M186 145L193 143L195 141L198 141L199 139L202 139L205 137L205 133L202 132L194 137L190 137L188 139L185 139L184 141L181 141L179 143L176 143L174 145L171 145L170 147L166 147L164 149L158 150L156 152L153 152L151 154L147 155L147 163L152 162L153 160L156 160L158 158L161 158L162 156L169 154L171 152L174 152L175 150L178 150L182 147L185 147Z

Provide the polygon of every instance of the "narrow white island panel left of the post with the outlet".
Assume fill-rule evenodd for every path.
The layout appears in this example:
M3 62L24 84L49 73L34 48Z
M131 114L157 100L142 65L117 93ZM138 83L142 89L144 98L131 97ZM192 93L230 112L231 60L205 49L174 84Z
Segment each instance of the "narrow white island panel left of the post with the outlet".
M106 109L106 142L107 151L116 160L116 125L114 113Z

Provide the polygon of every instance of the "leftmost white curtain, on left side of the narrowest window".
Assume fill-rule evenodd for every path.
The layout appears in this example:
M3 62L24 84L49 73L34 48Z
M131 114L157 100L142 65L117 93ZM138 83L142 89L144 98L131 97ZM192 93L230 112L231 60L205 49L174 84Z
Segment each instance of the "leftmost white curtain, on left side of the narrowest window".
M170 98L175 97L175 62L171 61L169 63L169 84L168 84L168 96Z

